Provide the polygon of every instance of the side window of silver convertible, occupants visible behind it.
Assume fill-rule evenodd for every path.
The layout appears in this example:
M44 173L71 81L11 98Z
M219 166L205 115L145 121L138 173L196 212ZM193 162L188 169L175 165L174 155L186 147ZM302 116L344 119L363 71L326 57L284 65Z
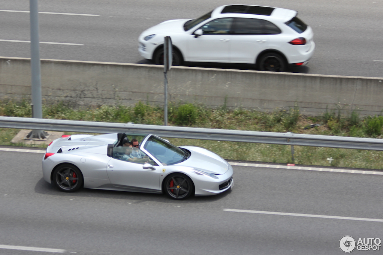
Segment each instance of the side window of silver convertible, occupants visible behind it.
M145 152L136 147L115 147L113 158L141 165L145 163L157 165Z

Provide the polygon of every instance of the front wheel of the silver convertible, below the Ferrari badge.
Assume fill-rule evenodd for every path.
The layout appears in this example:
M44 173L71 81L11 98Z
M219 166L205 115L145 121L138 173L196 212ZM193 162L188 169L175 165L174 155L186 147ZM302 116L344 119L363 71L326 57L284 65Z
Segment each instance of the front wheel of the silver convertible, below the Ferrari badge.
M173 199L185 199L194 194L193 181L182 173L173 173L165 180L165 193Z

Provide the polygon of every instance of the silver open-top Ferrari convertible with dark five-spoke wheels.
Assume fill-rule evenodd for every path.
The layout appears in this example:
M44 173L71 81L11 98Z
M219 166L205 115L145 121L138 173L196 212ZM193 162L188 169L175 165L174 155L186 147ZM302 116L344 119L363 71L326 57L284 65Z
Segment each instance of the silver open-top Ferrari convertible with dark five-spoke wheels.
M64 192L99 190L165 193L173 199L232 189L233 168L209 150L176 147L148 134L128 147L125 133L62 136L49 144L43 176Z

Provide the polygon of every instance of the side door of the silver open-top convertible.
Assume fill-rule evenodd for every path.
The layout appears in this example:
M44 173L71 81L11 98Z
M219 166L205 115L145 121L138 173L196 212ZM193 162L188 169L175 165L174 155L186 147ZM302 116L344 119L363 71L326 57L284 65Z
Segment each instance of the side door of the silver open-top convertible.
M132 191L158 191L160 167L148 156L143 156L141 159L129 158L125 154L126 148L115 147L113 156L106 166L111 184ZM142 151L141 153L144 154ZM144 166L146 162L151 166Z

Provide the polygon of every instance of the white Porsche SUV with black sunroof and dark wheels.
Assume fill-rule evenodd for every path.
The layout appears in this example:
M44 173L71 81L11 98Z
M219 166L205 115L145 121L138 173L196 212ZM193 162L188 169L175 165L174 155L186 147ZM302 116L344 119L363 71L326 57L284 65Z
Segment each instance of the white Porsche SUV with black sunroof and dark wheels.
M197 19L168 20L145 30L139 52L164 62L164 36L173 44L173 65L187 62L256 64L259 70L286 71L313 56L313 30L297 11L255 5L224 5Z

